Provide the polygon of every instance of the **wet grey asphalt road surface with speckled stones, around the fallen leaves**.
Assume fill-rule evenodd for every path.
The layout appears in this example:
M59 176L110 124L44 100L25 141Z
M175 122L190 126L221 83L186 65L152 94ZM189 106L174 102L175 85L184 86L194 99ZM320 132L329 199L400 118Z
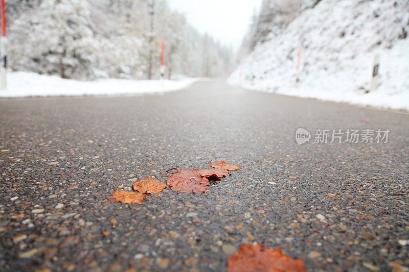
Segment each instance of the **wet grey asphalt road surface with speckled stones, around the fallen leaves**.
M391 132L388 143L299 145L299 127ZM310 271L409 267L408 143L407 114L217 81L1 100L0 270L223 271L242 243L279 246ZM107 200L131 174L166 181L168 168L210 160L243 169L202 195Z

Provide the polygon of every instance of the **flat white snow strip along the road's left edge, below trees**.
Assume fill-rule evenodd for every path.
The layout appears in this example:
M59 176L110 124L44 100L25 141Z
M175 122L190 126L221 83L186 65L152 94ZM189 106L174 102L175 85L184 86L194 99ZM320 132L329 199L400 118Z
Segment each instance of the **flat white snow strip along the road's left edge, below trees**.
M126 80L101 79L77 81L58 76L38 75L33 72L10 72L7 89L0 97L27 96L81 96L81 95L135 95L164 93L189 87L198 79Z

